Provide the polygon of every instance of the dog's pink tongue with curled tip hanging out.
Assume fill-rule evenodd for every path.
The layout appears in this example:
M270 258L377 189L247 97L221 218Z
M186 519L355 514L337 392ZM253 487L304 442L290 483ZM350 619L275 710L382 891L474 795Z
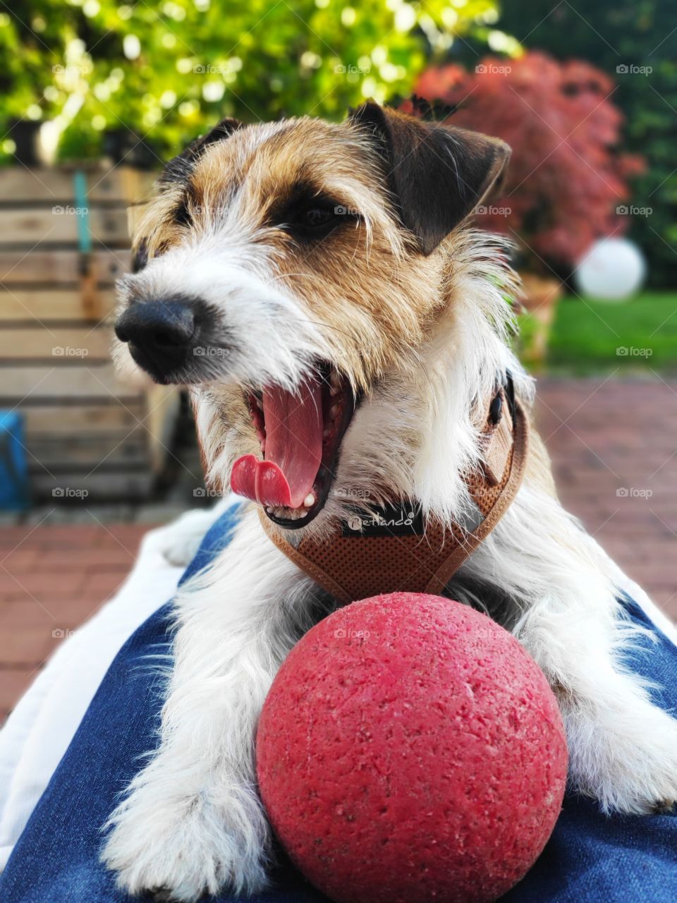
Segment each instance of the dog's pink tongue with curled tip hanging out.
M243 455L233 465L230 488L261 505L301 507L322 460L322 389L309 379L293 394L264 389L265 461Z

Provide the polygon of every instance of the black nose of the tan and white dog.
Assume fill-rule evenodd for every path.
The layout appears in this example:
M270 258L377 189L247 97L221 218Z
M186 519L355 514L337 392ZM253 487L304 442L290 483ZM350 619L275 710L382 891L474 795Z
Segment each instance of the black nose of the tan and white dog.
M146 301L128 307L116 322L116 336L129 343L139 365L159 382L168 381L192 358L198 321L188 301Z

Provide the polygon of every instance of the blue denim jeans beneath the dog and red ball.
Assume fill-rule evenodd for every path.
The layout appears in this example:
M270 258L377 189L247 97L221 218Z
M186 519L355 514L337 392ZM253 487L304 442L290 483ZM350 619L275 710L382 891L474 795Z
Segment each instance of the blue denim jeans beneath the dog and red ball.
M185 581L230 538L236 509L209 531L183 575ZM630 599L629 618L655 635L628 664L649 677L655 702L677 703L677 647ZM98 861L101 825L141 757L153 749L161 698L148 656L168 651L170 606L138 628L120 650L88 708L69 749L17 843L0 879L3 903L133 903ZM328 903L281 859L274 889L249 903ZM594 802L565 797L561 816L541 858L504 903L674 903L677 900L677 817L606 816ZM235 903L228 893L213 903ZM443 901L441 901L443 903Z

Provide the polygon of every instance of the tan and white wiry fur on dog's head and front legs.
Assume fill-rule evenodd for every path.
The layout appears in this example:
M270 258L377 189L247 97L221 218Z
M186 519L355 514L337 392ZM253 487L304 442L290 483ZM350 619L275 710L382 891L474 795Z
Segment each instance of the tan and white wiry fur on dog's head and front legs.
M311 172L362 211L353 227L299 248L265 216ZM456 170L455 170L456 172ZM458 174L458 173L457 173ZM393 215L368 136L295 120L211 144L149 207L139 236L151 262L122 285L122 306L198 295L232 354L185 374L209 479L257 452L243 387L298 386L331 361L365 393L342 444L328 502L297 531L329 536L348 504L408 496L462 521L462 474L478 465L487 397L506 370L528 408L531 380L507 347L515 275L495 237L454 228L424 256ZM192 205L192 224L172 210ZM225 342L225 339L224 339ZM560 506L534 436L524 485L448 588L512 629L558 695L570 783L603 809L649 812L677 796L677 721L623 665L643 639L621 617L624 578ZM645 597L641 600L650 606ZM270 543L248 507L235 537L176 600L174 666L157 752L107 825L103 852L125 889L196 900L266 883L269 828L256 794L255 724L277 667L331 606Z

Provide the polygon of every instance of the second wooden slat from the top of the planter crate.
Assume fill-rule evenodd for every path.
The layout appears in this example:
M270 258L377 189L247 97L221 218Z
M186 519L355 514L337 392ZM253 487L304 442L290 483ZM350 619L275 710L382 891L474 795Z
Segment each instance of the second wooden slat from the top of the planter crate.
M74 244L78 241L75 208L54 204L48 209L0 209L0 241L3 245L35 247L43 242ZM129 245L125 208L89 209L88 227L93 241L107 246Z

